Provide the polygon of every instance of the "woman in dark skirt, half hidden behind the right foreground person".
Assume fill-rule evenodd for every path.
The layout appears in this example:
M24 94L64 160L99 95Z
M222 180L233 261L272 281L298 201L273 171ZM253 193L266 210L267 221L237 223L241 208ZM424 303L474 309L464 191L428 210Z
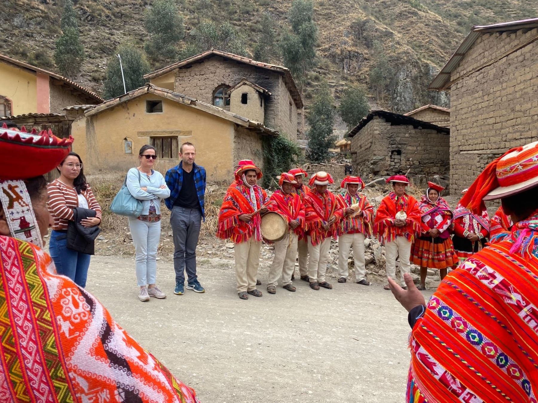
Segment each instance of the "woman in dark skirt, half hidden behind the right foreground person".
M465 193L467 189L463 190ZM482 214L471 213L468 208L458 204L454 211L452 222L454 249L459 262L463 263L473 254L486 246L486 238L490 234L490 216L487 214L486 205L482 206Z

